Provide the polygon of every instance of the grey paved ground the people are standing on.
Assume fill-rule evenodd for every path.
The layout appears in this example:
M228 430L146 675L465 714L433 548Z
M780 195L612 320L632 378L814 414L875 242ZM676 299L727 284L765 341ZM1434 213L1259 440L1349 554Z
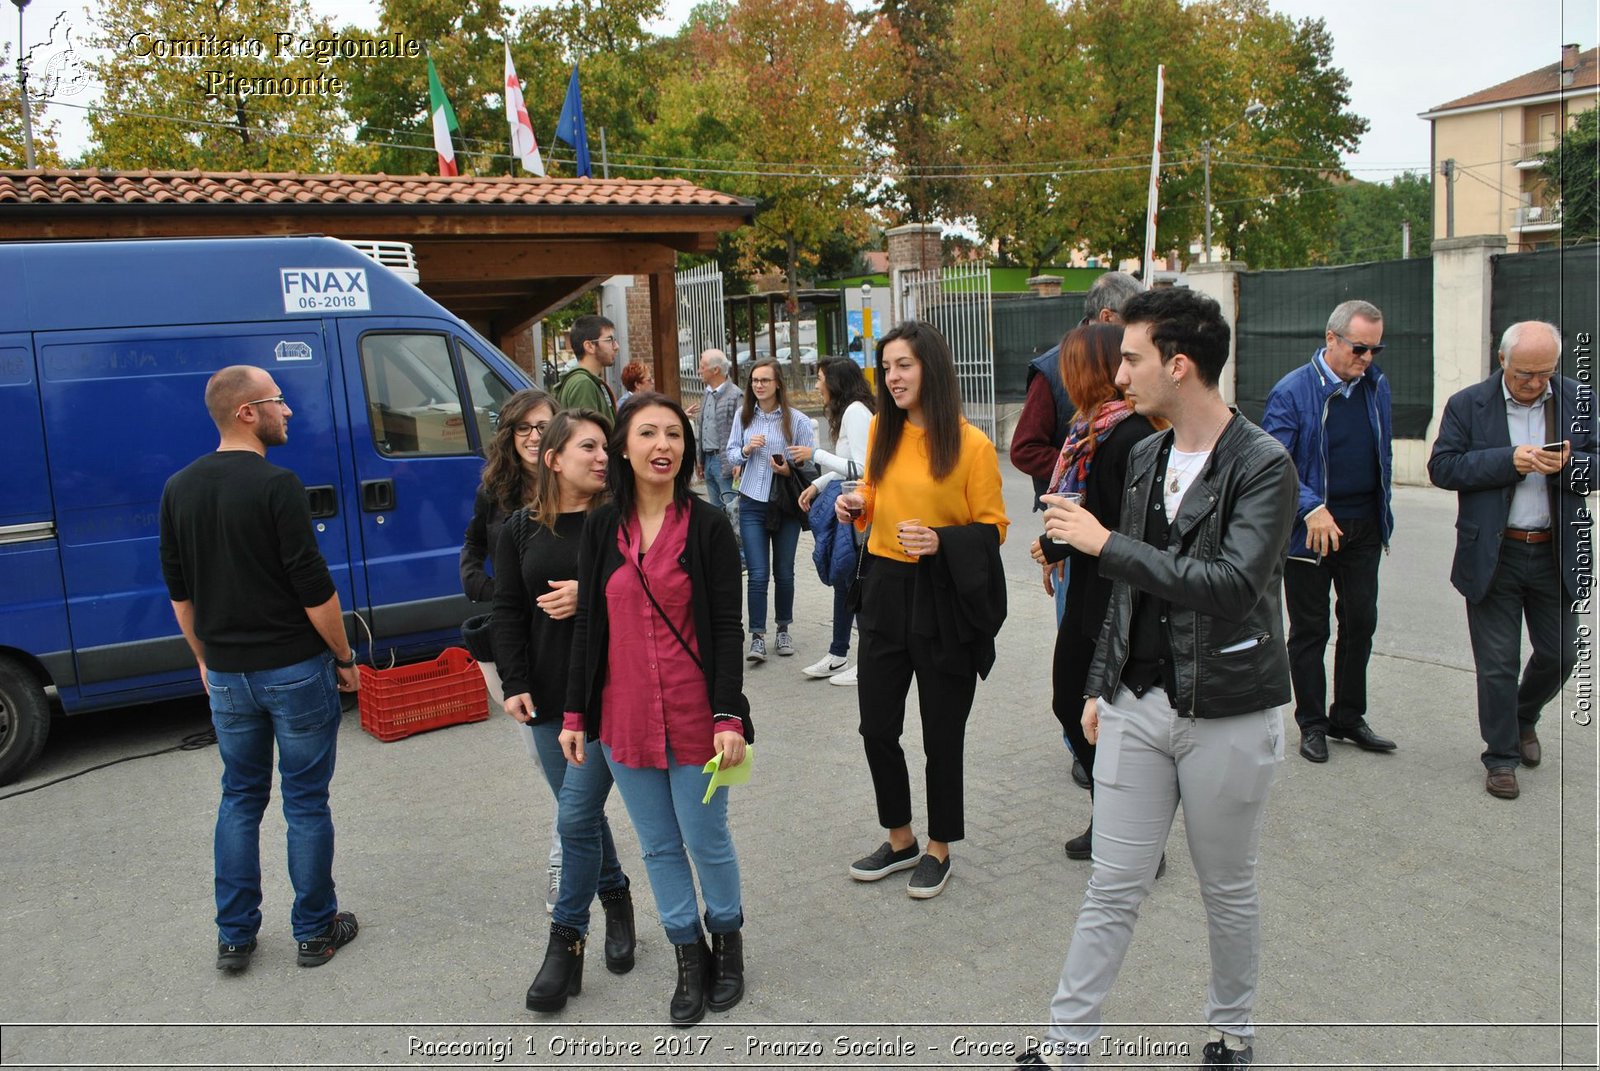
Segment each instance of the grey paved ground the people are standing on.
M1006 469L1011 610L968 728L968 839L942 897L846 876L882 831L854 690L800 674L827 644L830 608L806 538L798 653L746 677L760 736L755 778L731 807L749 962L731 1012L661 1026L672 949L614 799L638 965L608 975L595 954L565 1012L526 1012L547 935L552 804L514 728L498 716L386 744L350 714L333 786L336 877L362 933L317 970L294 965L275 810L261 948L240 977L213 969L214 748L0 800L0 1063L1010 1066L986 1047L1042 1031L1088 879L1088 863L1061 850L1090 800L1048 712L1053 618L1026 554L1037 530L1026 488ZM1261 845L1258 1061L1595 1066L1597 728L1568 717L1570 690L1546 711L1544 765L1523 772L1522 799L1485 794L1464 610L1448 586L1454 499L1395 498L1371 724L1400 749L1334 743L1314 767L1294 756L1290 720ZM1579 672L1592 696L1594 661ZM194 701L58 722L29 780L5 791L206 728ZM915 768L915 719L907 751ZM1106 1047L1122 1055L1099 1063L1192 1066L1206 1041L1205 916L1181 820L1170 860L1106 1009Z

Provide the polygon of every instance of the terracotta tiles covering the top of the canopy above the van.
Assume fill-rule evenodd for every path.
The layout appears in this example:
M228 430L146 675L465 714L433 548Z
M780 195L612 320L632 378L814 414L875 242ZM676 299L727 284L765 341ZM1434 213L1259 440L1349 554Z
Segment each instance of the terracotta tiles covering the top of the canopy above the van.
M1590 54L1592 56L1592 54ZM256 174L205 171L0 171L0 205L614 205L752 208L683 179Z

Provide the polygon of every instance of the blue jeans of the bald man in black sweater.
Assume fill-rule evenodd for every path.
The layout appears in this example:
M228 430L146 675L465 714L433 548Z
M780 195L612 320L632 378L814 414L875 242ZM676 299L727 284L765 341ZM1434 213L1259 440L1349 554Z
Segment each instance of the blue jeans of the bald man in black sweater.
M333 655L282 669L206 669L211 724L222 756L216 812L216 930L248 945L261 930L261 816L272 797L272 744L283 776L294 940L323 930L339 911L333 892L333 812L328 783L339 741L339 685Z

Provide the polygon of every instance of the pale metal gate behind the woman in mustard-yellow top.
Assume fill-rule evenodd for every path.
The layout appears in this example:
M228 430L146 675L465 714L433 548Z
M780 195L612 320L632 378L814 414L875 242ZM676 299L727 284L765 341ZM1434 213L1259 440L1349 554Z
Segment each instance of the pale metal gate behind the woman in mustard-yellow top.
M989 263L896 272L899 317L933 323L950 343L966 419L995 442L995 319Z

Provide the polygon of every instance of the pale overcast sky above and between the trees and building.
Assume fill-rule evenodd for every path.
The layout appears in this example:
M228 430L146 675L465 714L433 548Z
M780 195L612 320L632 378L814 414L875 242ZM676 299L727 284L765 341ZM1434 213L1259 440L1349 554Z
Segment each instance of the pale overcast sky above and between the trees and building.
M334 24L378 27L379 3L373 0L310 0L312 10ZM10 3L0 16L11 16ZM538 6L512 0L512 6ZM675 29L693 0L666 0L666 18L656 27ZM858 6L861 6L858 0ZM1334 42L1334 62L1350 78L1350 102L1371 128L1347 160L1357 178L1382 179L1405 170L1429 166L1429 125L1418 118L1437 104L1488 88L1560 58L1566 42L1586 51L1600 38L1600 3L1595 0L1270 0L1275 11L1296 19L1323 18ZM88 29L82 0L32 0L26 11L26 43L40 42L67 13L67 21ZM0 40L13 45L16 21L0 19ZM77 45L77 35L74 37ZM1181 45L1179 45L1181 46ZM53 53L35 53L38 67ZM67 155L83 150L88 128L83 106L99 88L61 99L50 109L59 120ZM541 141L546 131L538 131ZM1168 141L1171 141L1168 131Z

